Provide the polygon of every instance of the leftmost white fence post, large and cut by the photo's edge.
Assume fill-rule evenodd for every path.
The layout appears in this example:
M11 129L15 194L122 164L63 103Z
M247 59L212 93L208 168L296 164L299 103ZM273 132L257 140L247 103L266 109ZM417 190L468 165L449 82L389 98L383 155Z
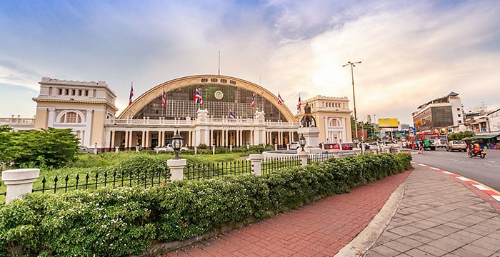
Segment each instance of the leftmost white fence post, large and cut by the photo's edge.
M7 186L5 203L21 198L24 193L31 193L33 182L40 174L39 168L20 168L1 172L1 180Z

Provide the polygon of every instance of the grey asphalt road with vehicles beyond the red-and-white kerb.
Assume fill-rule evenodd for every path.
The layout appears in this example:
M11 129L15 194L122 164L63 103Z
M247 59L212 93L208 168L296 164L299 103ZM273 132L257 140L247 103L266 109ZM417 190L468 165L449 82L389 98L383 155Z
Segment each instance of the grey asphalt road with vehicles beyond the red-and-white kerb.
M464 152L447 152L444 148L411 154L413 161L459 174L500 191L500 150L486 150L486 157L469 158Z

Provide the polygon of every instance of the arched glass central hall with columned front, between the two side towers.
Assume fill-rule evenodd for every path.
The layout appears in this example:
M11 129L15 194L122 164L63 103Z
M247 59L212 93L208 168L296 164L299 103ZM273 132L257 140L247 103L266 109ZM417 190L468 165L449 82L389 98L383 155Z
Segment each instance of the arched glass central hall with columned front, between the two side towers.
M196 90L204 104L194 103ZM110 148L164 146L176 131L187 146L237 147L291 143L298 139L299 123L261 86L231 76L196 75L149 89L116 119L106 120L105 128Z

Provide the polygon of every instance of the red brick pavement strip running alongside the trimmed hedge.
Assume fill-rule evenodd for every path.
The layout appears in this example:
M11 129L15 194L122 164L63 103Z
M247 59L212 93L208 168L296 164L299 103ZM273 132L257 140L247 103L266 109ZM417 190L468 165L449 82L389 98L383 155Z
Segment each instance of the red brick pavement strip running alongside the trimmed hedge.
M410 172L162 256L334 256L368 225Z

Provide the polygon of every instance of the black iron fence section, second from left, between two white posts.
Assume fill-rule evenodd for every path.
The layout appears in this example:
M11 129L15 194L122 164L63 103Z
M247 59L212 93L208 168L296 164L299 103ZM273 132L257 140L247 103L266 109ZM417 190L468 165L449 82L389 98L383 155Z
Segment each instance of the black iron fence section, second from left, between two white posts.
M186 179L206 179L225 175L241 175L251 172L251 162L246 160L225 163L196 164L184 167Z

